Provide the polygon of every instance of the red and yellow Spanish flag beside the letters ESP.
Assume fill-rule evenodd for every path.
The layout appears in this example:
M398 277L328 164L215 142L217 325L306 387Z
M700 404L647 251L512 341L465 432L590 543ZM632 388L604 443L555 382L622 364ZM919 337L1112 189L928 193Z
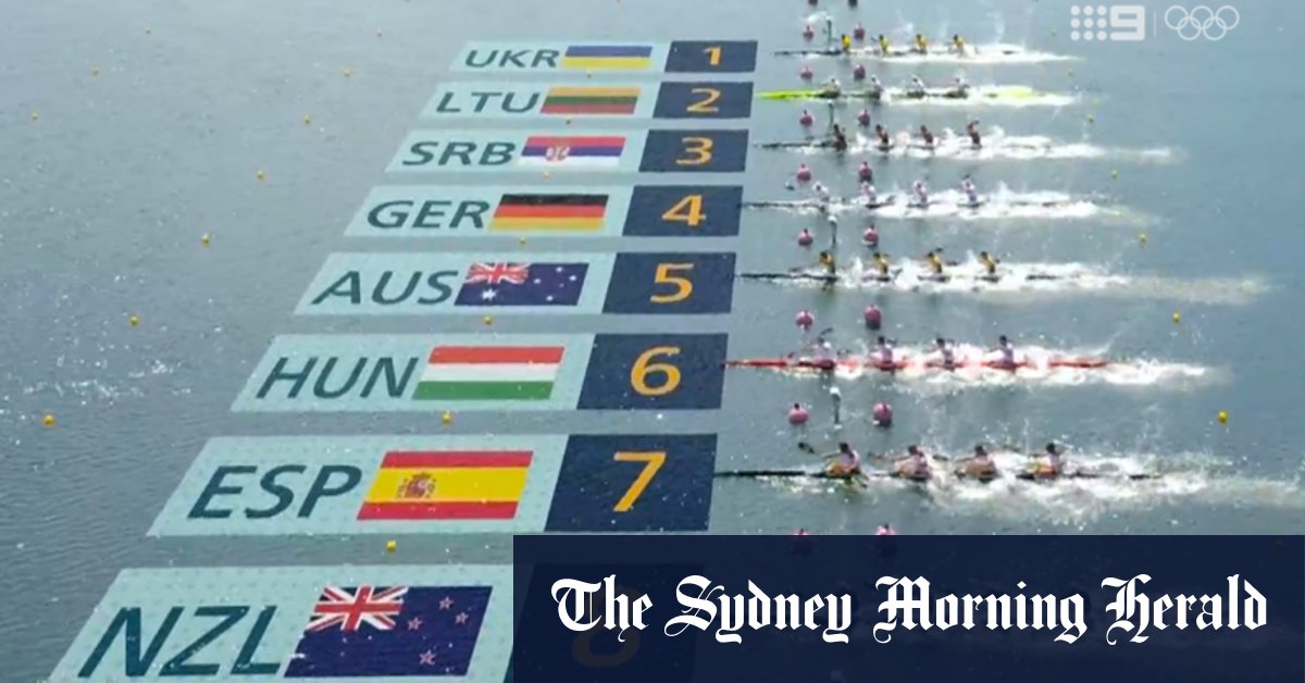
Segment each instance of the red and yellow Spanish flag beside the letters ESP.
M530 451L392 451L358 518L510 520L530 461Z

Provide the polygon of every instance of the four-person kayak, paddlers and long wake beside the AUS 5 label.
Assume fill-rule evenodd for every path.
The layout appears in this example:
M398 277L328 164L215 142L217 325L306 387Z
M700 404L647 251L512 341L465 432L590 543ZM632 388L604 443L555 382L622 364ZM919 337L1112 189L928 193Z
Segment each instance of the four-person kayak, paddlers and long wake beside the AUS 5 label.
M941 279L923 261L897 261L887 278L883 278L861 259L852 259L851 264L835 276L827 276L820 268L809 268L776 273L740 273L739 277L806 287L989 295L994 300L1027 300L1026 295L1031 294L1092 294L1130 299L1246 304L1266 290L1262 282L1253 278L1172 279L1128 276L1111 273L1104 266L1078 262L1001 261L997 276L989 276L972 253L963 261L949 262Z

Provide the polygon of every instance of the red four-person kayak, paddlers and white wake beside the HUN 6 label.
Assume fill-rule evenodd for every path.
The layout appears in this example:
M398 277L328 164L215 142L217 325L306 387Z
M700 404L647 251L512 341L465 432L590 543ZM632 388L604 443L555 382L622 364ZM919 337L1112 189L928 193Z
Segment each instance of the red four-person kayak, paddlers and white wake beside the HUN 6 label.
M792 375L827 375L856 380L882 377L928 387L1074 387L1109 384L1154 387L1182 384L1212 375L1211 368L1150 359L1107 359L1092 351L1021 346L1015 366L1007 366L985 347L953 343L953 363L927 347L895 347L893 362L876 353L839 351L831 355L797 355L728 360L729 367L767 368Z

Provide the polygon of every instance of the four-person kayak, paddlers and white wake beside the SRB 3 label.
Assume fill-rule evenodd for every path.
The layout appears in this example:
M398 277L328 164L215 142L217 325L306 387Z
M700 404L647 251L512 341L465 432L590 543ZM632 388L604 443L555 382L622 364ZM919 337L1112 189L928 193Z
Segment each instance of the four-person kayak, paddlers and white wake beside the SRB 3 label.
M908 131L890 137L889 145L882 145L876 137L855 133L848 140L848 154L873 154L889 158L915 159L1121 159L1133 162L1172 162L1177 153L1169 148L1121 149L1103 148L1087 141L1069 142L1047 136L1014 136L1000 127L992 127L981 137L981 145L975 146L970 137L946 128L937 133L934 144L925 145L912 138ZM823 140L801 140L786 142L763 142L762 149L787 149L800 154L833 153L834 148Z

